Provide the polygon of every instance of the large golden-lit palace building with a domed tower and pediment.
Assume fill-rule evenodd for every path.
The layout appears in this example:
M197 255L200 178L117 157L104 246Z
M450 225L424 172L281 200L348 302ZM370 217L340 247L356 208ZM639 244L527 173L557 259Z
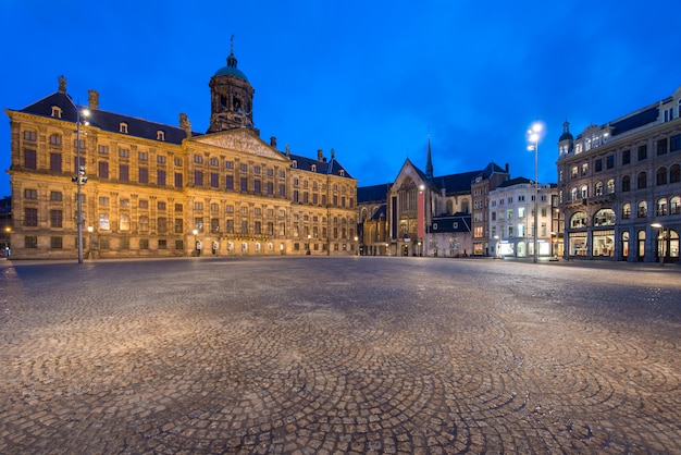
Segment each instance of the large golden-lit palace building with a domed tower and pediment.
M205 134L77 106L55 93L11 121L13 259L354 255L357 181L333 150L314 158L259 137L255 90L227 65L210 79ZM77 194L82 207L78 208Z

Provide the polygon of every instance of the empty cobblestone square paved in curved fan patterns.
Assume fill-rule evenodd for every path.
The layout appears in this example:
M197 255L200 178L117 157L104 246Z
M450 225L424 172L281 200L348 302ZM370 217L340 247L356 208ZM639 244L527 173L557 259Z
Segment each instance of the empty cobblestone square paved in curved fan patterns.
M2 261L0 453L680 453L680 271Z

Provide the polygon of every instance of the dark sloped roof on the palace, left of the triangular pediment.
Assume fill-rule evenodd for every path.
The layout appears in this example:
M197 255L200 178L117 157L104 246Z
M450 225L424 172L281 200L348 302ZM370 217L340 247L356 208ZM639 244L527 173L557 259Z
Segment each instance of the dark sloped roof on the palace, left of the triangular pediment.
M77 107L71 99L71 97L62 91L55 91L39 101L34 102L22 109L20 112L29 113L40 116L52 116L52 107L57 106L62 110L62 116L58 120L66 122L77 121ZM185 131L177 126L170 126L158 122L151 122L144 119L138 119L129 115L123 115L114 112L102 111L99 109L85 108L89 111L87 118L81 116L82 122L88 122L91 126L101 128L102 131L109 131L112 133L121 133L121 123L127 124L127 134L129 136L141 137L149 140L159 140L157 132L162 131L164 133L164 143L182 144L183 139L187 137ZM193 136L200 136L201 133L191 133Z

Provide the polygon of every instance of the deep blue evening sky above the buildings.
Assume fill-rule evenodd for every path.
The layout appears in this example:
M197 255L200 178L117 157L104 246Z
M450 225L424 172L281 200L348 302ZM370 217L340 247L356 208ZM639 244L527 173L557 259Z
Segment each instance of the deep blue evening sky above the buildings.
M556 181L562 123L577 135L681 85L681 2L530 0L0 0L2 109L57 90L100 109L205 132L208 83L230 37L256 89L253 120L280 149L332 148L359 185L406 158L436 175L490 161L534 177L525 132L546 124L540 181ZM10 167L9 119L0 167ZM0 175L0 196L9 195Z

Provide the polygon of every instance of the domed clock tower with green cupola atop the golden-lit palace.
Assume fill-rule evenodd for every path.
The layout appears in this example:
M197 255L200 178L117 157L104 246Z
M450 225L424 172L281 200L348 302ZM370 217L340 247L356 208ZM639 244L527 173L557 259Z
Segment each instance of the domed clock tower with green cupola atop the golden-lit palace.
M234 35L230 42L227 65L210 79L210 126L208 133L253 127L253 87L246 74L236 67Z

